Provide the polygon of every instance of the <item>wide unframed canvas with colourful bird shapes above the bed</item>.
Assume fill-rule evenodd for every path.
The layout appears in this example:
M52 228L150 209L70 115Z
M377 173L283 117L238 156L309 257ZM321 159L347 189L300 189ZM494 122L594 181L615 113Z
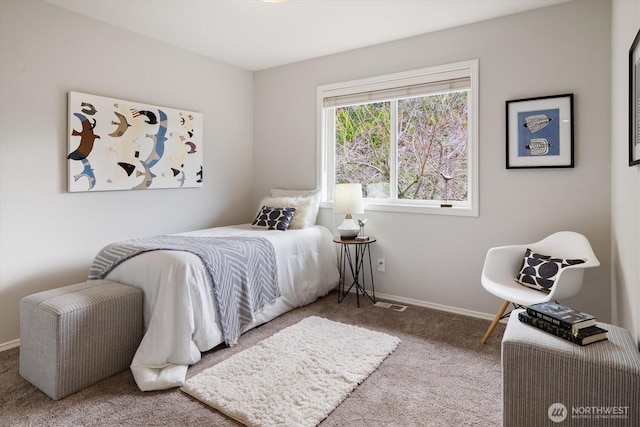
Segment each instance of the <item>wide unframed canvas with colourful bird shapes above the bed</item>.
M69 191L202 187L202 114L69 92Z

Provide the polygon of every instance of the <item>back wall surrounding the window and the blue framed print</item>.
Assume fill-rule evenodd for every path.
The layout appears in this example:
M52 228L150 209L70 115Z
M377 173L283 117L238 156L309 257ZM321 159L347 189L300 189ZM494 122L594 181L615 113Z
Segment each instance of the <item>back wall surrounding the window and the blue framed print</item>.
M610 34L608 1L576 1L257 72L254 204L270 187L316 185L318 85L478 58L480 216L367 212L367 234L378 237L373 256L387 261L376 290L492 315L501 302L480 285L486 251L574 230L602 266L565 302L608 321ZM575 168L506 170L505 101L564 93L575 95ZM338 223L327 209L320 218Z

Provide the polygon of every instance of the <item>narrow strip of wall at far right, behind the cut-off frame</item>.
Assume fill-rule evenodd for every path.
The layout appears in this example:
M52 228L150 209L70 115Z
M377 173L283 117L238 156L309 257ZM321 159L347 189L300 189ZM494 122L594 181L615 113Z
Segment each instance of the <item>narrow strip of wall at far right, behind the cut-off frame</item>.
M616 323L640 344L640 166L629 167L629 48L640 29L640 1L612 6L611 216Z

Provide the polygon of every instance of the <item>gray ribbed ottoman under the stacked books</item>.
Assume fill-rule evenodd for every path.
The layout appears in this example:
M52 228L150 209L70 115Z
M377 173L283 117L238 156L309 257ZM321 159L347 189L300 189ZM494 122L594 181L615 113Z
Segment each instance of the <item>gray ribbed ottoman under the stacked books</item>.
M518 320L502 338L504 426L640 426L640 352L623 328L581 347Z

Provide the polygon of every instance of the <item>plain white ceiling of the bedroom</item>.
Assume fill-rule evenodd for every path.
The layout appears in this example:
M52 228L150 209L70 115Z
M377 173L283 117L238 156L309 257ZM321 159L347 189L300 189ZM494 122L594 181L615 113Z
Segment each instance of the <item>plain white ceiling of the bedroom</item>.
M45 0L251 71L570 0Z

